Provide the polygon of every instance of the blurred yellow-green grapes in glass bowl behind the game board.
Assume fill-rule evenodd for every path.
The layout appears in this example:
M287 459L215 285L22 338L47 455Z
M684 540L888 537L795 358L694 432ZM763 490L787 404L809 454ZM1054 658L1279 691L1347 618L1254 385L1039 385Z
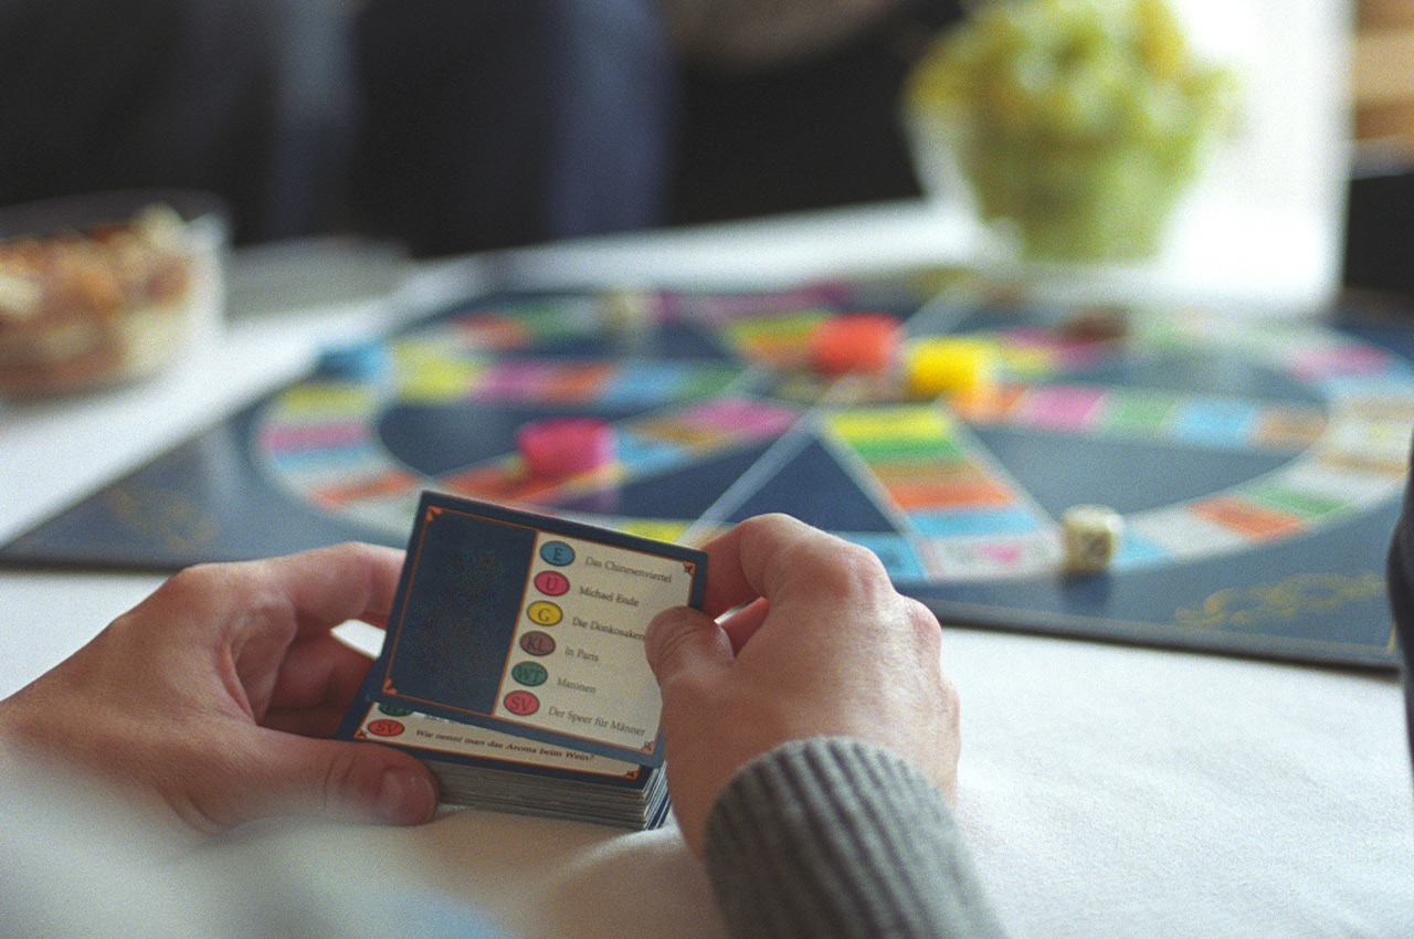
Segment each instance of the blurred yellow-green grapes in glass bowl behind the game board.
M960 178L1024 256L1107 262L1158 250L1234 102L1165 0L993 0L919 61L905 116L925 180Z

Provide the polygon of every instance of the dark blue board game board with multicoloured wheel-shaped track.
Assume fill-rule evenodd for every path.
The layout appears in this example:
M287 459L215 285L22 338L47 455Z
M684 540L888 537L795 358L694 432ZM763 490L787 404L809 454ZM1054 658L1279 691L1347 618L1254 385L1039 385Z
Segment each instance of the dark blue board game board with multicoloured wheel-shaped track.
M1003 362L916 399L803 368L812 327L888 311ZM175 568L404 544L423 489L701 543L789 512L871 547L952 622L1390 666L1383 557L1414 369L1315 324L1134 311L1128 332L957 272L742 293L505 293L332 354L0 550ZM617 458L527 475L527 421L585 414ZM1124 516L1110 570L1059 570L1076 503Z

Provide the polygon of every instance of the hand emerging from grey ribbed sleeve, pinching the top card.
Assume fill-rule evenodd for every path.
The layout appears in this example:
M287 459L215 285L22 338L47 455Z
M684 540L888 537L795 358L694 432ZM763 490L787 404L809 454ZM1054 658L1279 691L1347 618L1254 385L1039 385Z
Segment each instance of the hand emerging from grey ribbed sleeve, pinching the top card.
M960 737L940 628L880 560L783 515L742 522L706 550L704 611L665 611L645 636L687 844L701 854L707 813L737 769L790 740L887 748L950 798Z

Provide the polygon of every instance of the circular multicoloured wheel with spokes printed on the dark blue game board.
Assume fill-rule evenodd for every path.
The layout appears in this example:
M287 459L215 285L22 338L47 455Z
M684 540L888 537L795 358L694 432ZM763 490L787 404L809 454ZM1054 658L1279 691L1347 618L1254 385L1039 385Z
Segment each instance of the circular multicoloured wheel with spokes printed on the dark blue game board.
M1124 515L1123 573L1309 537L1403 485L1414 373L1350 337L1185 311L1086 338L1065 311L954 287L911 331L993 344L994 393L840 393L854 379L797 368L814 321L881 300L911 313L843 286L645 297L635 322L615 318L622 297L502 297L287 389L256 450L300 501L390 533L424 488L665 539L790 511L902 584L1053 571L1056 519L1079 502ZM550 414L611 421L615 464L527 474L515 431Z

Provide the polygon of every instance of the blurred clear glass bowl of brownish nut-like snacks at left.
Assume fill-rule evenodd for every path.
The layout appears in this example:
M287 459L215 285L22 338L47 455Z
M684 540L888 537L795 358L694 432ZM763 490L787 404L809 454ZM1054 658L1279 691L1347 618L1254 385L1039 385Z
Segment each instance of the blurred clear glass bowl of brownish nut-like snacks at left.
M225 204L134 189L0 209L0 393L150 378L219 329Z

